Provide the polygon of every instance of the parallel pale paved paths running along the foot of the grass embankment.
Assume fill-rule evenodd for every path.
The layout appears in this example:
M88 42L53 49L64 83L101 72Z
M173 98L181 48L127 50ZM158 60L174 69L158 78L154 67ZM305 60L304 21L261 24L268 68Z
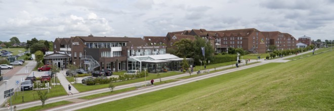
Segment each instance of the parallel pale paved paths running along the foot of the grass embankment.
M312 52L312 51L307 51L307 52ZM303 52L301 54L304 54L304 53L307 53L307 52ZM114 95L110 95L110 96L106 96L106 97L100 97L100 98L97 98L97 99L78 101L78 102L75 102L75 103L62 105L62 106L54 107L54 108L47 109L47 110L75 110L75 109L80 109L80 108L89 107L89 106L93 106L93 105L96 105L96 104L101 104L101 103L105 103L105 102L109 102L109 101L113 101L113 100L118 100L118 99L122 99L122 98L126 98L126 97L131 97L131 96L135 96L135 95L139 95L139 94L143 94L143 93L147 93L147 92L152 92L152 91L156 91L156 90L160 90L160 89L164 89L164 88L169 88L169 87L173 87L173 86L177 86L177 85L182 85L182 84L186 84L186 83L189 83L189 82L198 81L198 80L201 80L201 79L206 79L206 78L210 78L210 77L214 77L214 76L218 76L218 75L222 75L222 74L226 74L226 73L230 73L230 72L234 72L234 71L239 71L239 70L243 70L243 69L247 69L247 68L252 68L252 67L256 67L256 66L260 66L260 65L264 65L264 64L268 64L268 63L282 62L281 60L286 59L286 58L290 58L290 57L294 57L294 56L296 56L296 55L289 55L288 57L283 57L283 58L279 58L279 59L275 59L275 60L269 60L269 61L264 61L264 59L251 60L251 63L252 62L257 62L257 61L259 61L261 63L253 64L253 65L249 65L249 66L242 66L242 67L239 67L239 68L230 69L230 70L226 70L226 71L206 74L206 75L202 75L202 76L198 76L198 77L194 77L194 78L180 80L180 81L177 81L177 82L157 85L157 86L154 86L154 87L146 87L146 88L138 89L138 90L135 90L135 91L129 91L129 92L114 94ZM286 62L286 60L284 60L284 61ZM235 67L235 66L231 65L231 66L220 67L220 68L216 68L216 70L225 69L225 68L229 68L229 67ZM214 69L210 69L210 70L213 71ZM196 74L196 72L194 72L192 74ZM189 73L176 75L176 76L165 77L165 78L161 78L161 80L165 81L165 80L176 79L176 78L180 78L180 77L184 77L184 76L189 76ZM155 79L154 81L159 81L159 79ZM149 82L149 80L145 81L145 82L121 85L121 86L115 87L114 90L120 90L120 89L124 89L124 88L135 87L135 86L138 86L138 85L143 85L147 82ZM65 85L68 85L68 84L65 83ZM110 91L109 88L104 88L104 89L98 89L98 90L93 90L93 91L76 93L76 94L73 94L73 95L70 95L70 96L66 95L66 96L53 97L53 98L50 98L49 100L47 100L46 104L53 103L53 102L58 102L58 101L63 101L63 100L76 99L78 97L83 97L83 96L88 96L88 95L93 95L93 94L103 93L103 92L108 92L108 91ZM37 105L41 105L41 102L40 101L32 101L32 102L17 104L16 106L17 106L17 109L24 109L24 108L28 108L28 107L32 107L32 106L37 106ZM7 110L7 108L0 108L0 110Z

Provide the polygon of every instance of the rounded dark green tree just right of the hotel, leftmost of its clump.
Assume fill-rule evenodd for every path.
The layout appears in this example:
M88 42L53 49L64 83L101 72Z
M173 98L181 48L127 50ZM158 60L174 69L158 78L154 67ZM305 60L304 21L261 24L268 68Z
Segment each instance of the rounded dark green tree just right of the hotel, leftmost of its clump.
M173 46L176 46L175 54L178 57L191 58L194 54L192 41L189 39L181 39L180 41L175 42Z

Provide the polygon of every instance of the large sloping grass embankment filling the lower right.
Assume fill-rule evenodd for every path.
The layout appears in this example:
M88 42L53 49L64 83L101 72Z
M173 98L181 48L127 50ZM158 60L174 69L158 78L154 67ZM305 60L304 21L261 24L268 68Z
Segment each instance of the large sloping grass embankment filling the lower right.
M81 110L334 110L333 54L266 64Z

